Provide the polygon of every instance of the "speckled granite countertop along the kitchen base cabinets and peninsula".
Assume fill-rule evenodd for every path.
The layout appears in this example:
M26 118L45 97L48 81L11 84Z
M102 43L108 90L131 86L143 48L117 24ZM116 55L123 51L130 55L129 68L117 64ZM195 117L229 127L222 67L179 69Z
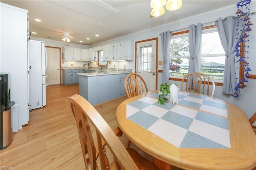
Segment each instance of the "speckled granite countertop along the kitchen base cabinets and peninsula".
M84 70L96 71L94 73L78 73L78 75L82 75L82 76L85 76L85 77L98 76L98 75L112 75L112 74L132 73L132 69L118 69L118 68L108 68L108 67L103 67L102 69L100 69L100 67L89 67L88 69L85 69L85 67L62 67L61 69L63 69L63 70L84 69Z

